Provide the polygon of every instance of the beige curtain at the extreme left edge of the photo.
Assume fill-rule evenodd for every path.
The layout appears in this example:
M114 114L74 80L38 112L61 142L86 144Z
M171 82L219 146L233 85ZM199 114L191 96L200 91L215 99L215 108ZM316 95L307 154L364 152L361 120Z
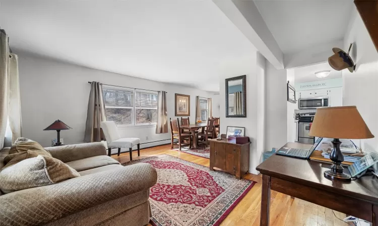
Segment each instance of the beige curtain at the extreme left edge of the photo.
M0 150L4 147L8 120L9 43L8 35L0 30Z

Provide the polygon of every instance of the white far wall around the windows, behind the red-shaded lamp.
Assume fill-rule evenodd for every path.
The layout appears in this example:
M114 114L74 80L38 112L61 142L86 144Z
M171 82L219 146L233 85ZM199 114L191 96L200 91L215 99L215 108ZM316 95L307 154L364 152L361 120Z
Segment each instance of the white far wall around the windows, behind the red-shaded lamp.
M20 92L22 108L22 135L51 146L55 131L43 131L59 119L73 128L61 131L65 144L82 143L87 118L90 84L105 84L167 91L168 118L174 116L174 94L191 95L191 122L195 122L196 95L213 97L213 93L161 83L116 73L90 69L17 52L19 55ZM155 134L155 126L119 127L122 137L139 137L141 143L170 139L170 133ZM146 140L146 136L149 140Z

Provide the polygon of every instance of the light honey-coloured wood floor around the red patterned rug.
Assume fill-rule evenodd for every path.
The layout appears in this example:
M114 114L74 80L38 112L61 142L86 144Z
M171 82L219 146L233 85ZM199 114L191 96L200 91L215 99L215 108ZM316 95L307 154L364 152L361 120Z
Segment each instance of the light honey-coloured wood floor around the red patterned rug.
M133 160L149 156L168 154L186 161L191 161L204 166L209 166L209 159L174 151L170 145L162 145L141 150L138 157L137 151L133 152ZM120 163L130 161L129 153L121 153L120 156L112 155ZM261 202L261 176L246 174L245 179L254 180L258 183L247 193L237 204L231 213L223 220L222 226L228 225L259 225L260 224L260 202ZM334 211L336 216L343 219L345 214ZM270 225L348 225L336 218L331 209L312 204L310 202L291 198L288 195L272 191L270 207Z

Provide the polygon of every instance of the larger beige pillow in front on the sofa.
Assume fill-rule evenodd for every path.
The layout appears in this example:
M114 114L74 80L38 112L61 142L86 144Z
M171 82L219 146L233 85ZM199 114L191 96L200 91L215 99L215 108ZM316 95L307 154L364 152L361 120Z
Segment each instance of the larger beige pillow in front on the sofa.
M0 190L10 193L32 187L54 184L79 177L80 174L62 161L38 155L0 171Z

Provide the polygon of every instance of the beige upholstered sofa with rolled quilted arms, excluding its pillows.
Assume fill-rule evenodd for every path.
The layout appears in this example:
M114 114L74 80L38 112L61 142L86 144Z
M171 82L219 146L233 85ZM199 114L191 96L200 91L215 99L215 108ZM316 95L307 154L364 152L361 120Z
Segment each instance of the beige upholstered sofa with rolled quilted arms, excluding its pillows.
M80 177L0 195L1 225L145 225L156 170L146 163L123 167L102 143L45 148ZM0 169L9 148L0 151Z

